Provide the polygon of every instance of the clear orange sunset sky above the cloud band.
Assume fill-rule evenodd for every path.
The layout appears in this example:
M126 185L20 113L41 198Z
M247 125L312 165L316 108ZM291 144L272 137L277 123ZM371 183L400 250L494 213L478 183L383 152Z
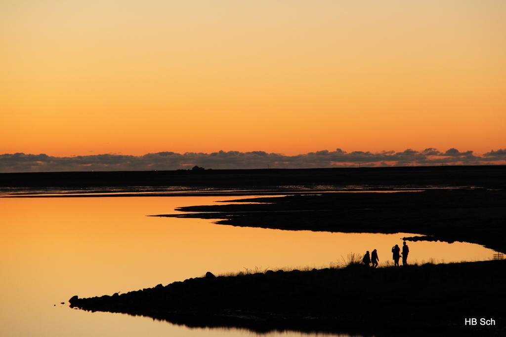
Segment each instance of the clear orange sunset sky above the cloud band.
M3 0L0 50L0 154L506 147L500 0Z

